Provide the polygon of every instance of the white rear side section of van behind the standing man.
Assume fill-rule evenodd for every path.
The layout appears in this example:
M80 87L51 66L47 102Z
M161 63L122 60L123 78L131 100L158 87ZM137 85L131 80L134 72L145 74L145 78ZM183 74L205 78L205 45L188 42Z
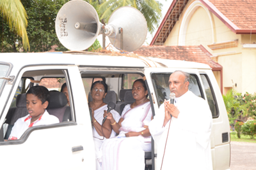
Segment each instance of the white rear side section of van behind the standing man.
M159 106L163 104L164 99L170 99L170 89L168 85L168 80L170 74L172 74L175 70L177 69L145 68L145 76L147 78L148 87L150 89L150 94L152 96L156 114L159 109ZM205 69L204 72L199 73L197 69L179 70L185 71L186 73L190 74L189 90L191 90L196 96L206 99L211 108L213 118L211 134L211 152L213 169L228 169L230 160L230 139L228 139L228 137L225 136L226 134L229 134L229 130L227 128L228 120L227 116L224 116L225 118L221 116L227 115L227 112L226 114L224 114L225 106L223 108L223 99L220 94L220 89L216 88L217 83L212 74L212 71L211 69ZM208 85L206 82L208 83ZM224 142L222 141L222 136L224 136L225 138ZM223 144L225 146L219 146ZM157 146L155 145L154 147L154 151L155 153L157 153ZM220 157L221 160L219 159ZM155 160L157 160L157 158Z

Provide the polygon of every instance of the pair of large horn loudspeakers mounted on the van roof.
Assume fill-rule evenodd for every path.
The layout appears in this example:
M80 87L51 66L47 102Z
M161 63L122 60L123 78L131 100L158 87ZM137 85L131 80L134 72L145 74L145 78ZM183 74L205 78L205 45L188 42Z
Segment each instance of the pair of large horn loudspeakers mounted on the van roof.
M61 7L55 29L61 44L76 51L92 46L102 33L116 48L128 52L140 48L147 37L147 21L136 8L118 8L104 26L93 6L81 0L69 1Z

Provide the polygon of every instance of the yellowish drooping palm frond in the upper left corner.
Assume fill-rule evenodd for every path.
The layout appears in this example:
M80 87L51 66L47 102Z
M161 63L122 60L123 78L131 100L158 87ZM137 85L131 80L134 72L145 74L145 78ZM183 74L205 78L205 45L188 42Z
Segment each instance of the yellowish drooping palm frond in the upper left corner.
M29 50L28 16L20 0L0 0L0 11L12 31L22 38L24 50Z

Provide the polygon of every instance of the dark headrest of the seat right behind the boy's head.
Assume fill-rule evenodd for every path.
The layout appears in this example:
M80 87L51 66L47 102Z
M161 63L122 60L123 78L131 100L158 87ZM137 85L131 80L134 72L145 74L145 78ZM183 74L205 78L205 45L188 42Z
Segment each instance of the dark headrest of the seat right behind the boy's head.
M67 97L63 92L50 92L50 102L47 109L62 108L68 103Z

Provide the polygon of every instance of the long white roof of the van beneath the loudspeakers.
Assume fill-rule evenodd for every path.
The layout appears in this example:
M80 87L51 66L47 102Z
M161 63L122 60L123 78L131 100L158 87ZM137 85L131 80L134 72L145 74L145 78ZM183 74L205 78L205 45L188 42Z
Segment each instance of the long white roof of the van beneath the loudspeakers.
M181 60L141 57L138 55L112 56L103 53L0 53L0 62L12 63L15 67L28 65L65 64L78 66L108 67L179 67L211 69L207 64Z

